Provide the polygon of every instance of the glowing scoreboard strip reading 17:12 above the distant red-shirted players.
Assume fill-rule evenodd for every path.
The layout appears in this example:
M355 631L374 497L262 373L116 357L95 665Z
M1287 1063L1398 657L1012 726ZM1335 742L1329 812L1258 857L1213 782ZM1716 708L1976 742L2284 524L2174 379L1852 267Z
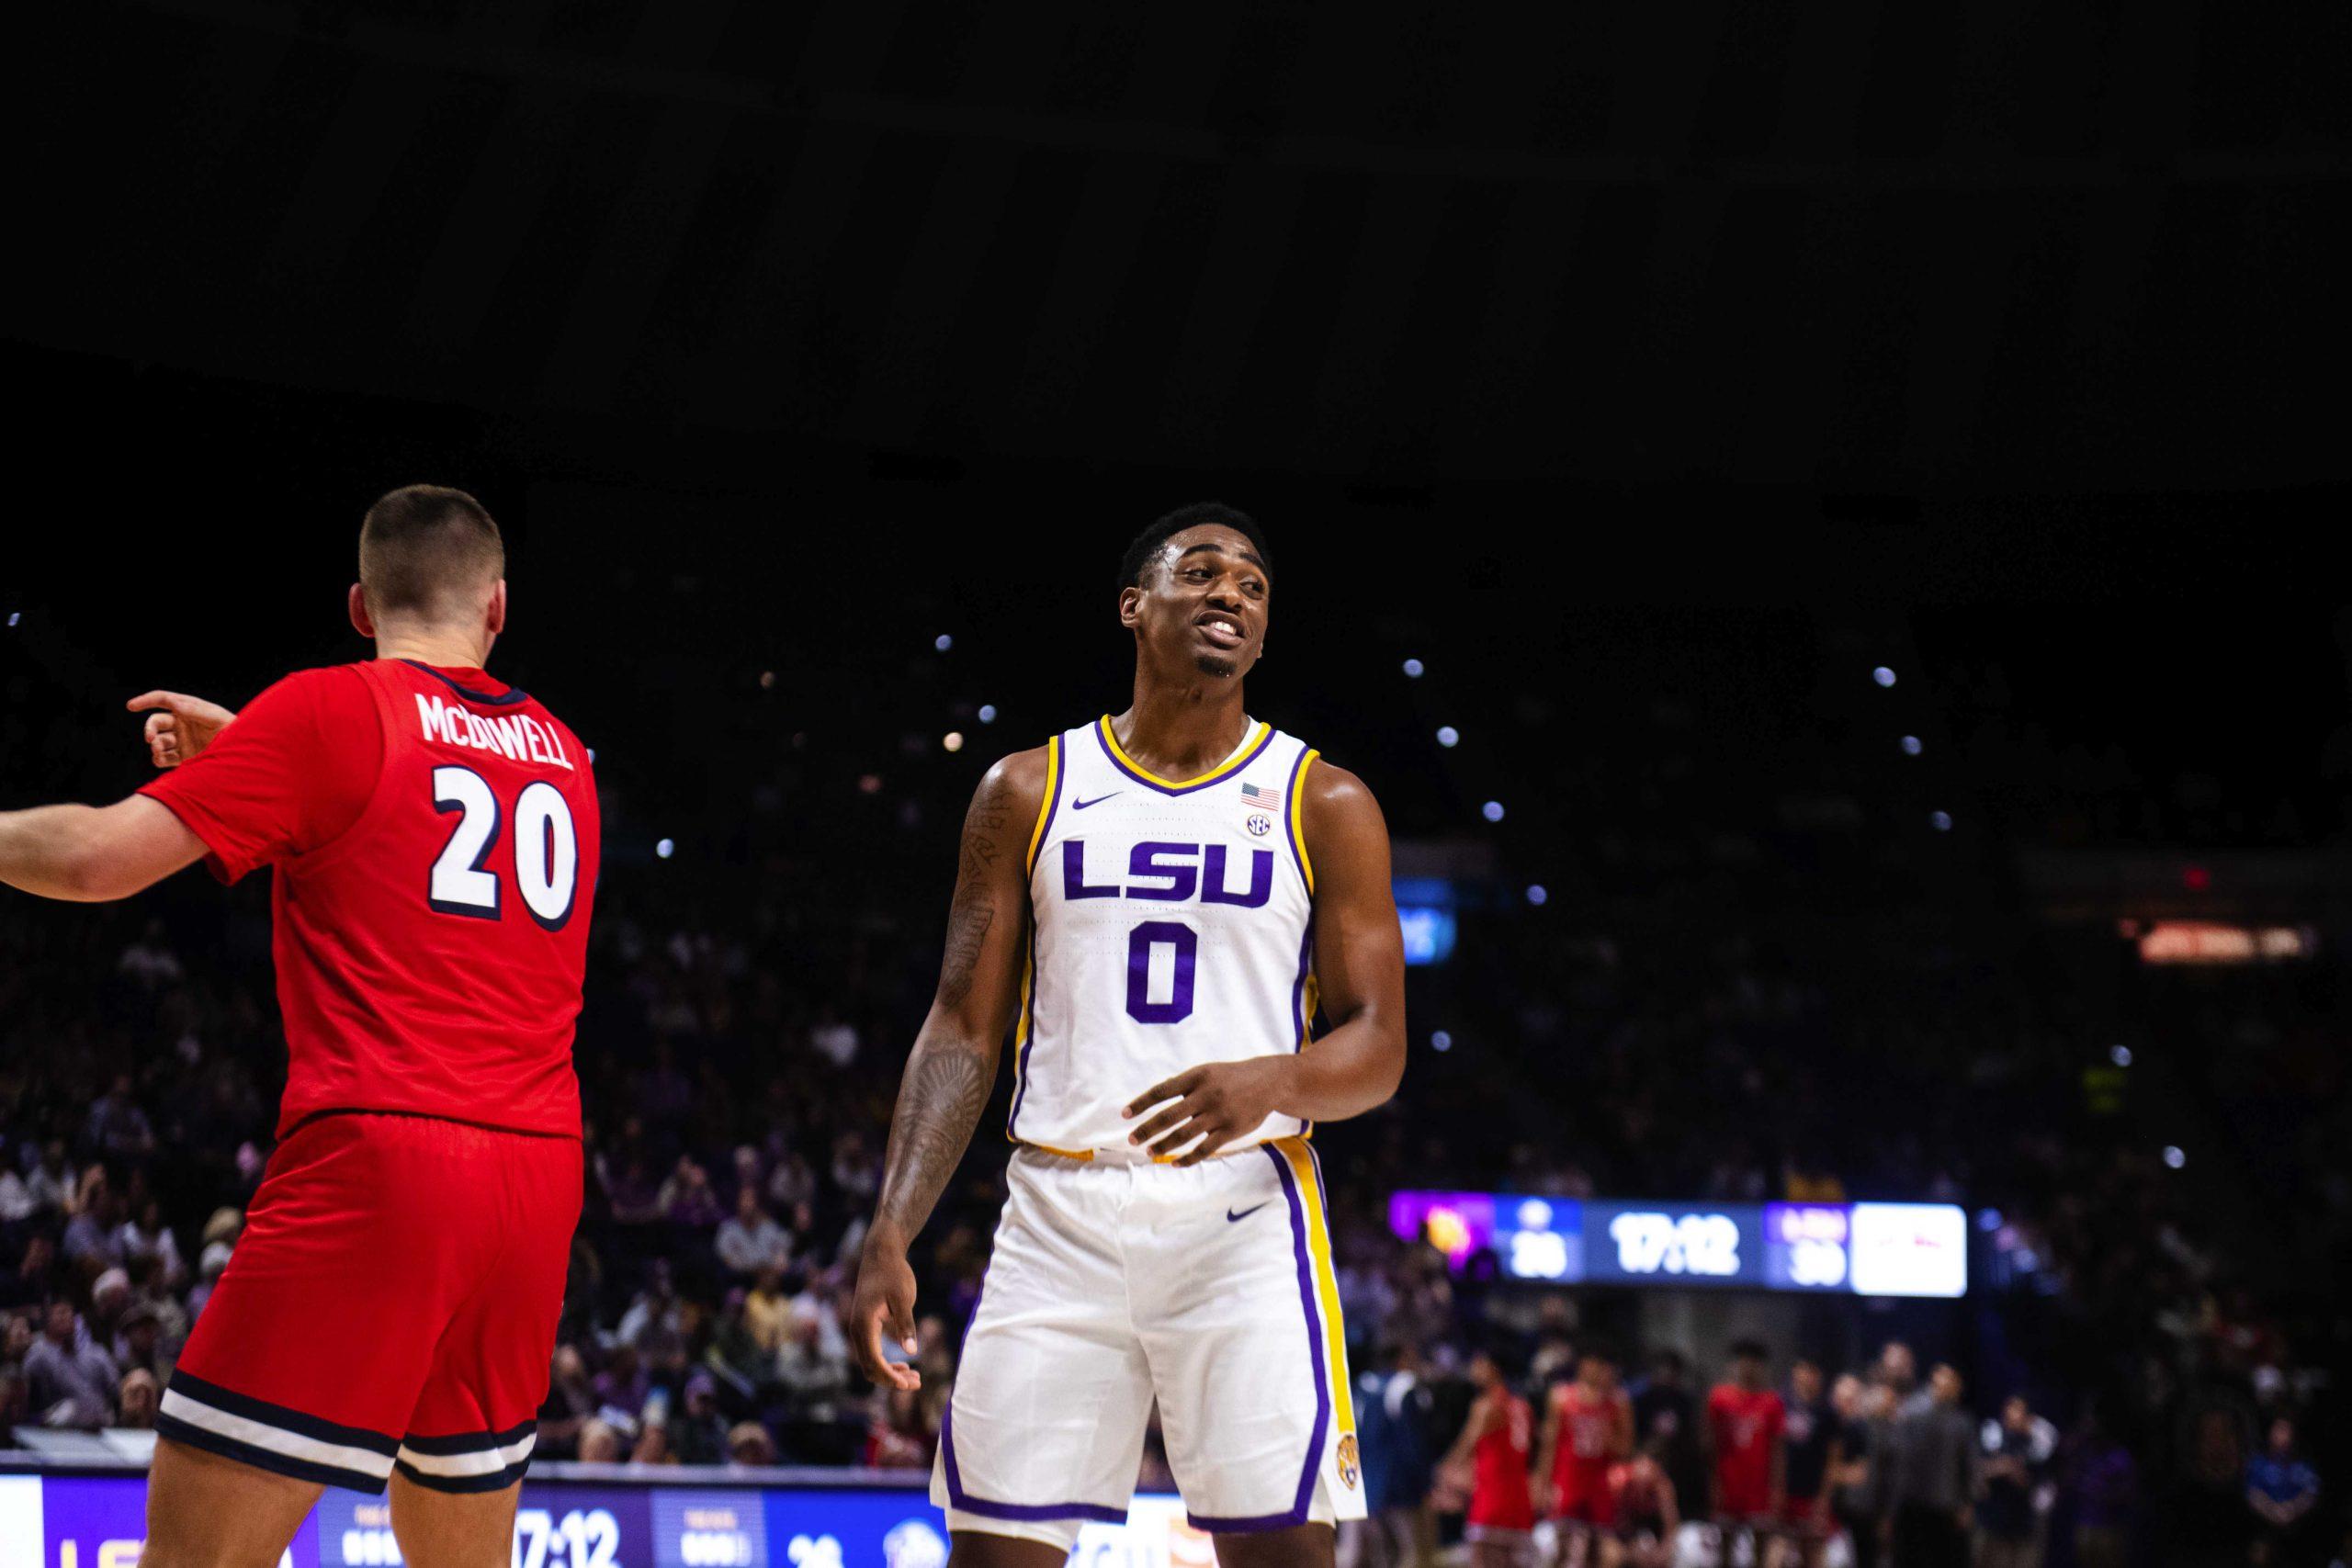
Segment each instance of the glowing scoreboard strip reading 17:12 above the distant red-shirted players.
M1491 1248L1538 1284L1736 1286L1813 1295L1969 1291L1969 1215L1952 1204L1668 1204L1510 1192L1397 1192L1388 1225L1454 1267Z

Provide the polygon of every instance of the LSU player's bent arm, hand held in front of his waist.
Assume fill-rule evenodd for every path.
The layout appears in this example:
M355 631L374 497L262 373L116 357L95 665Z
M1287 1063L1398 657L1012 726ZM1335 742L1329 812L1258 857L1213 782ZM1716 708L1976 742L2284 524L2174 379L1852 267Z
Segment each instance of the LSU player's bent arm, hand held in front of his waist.
M1136 1095L1129 1117L1174 1100L1129 1140L1152 1154L1192 1145L1178 1166L1209 1159L1275 1112L1362 1117L1404 1079L1404 933L1388 884L1388 820L1362 778L1327 762L1308 769L1303 790L1315 983L1331 1030L1301 1051L1190 1067Z

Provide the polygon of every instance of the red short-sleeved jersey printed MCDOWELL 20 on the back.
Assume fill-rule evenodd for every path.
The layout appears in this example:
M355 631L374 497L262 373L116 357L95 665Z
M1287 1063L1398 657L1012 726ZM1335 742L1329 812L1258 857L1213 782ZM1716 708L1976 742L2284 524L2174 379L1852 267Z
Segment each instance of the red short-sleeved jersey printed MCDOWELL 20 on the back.
M369 750L372 783L353 778ZM581 1131L600 816L588 748L555 715L473 670L306 670L143 792L223 879L278 872L280 1135L334 1110ZM332 797L365 804L320 827Z

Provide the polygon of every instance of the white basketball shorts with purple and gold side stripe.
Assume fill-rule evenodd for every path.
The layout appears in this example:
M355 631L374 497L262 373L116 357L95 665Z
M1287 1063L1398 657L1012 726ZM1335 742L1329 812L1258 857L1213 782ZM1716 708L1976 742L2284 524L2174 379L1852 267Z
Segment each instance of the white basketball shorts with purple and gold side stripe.
M1364 1516L1348 1345L1303 1138L1200 1166L1021 1147L931 1467L950 1530L1068 1549L1160 1432L1200 1530Z

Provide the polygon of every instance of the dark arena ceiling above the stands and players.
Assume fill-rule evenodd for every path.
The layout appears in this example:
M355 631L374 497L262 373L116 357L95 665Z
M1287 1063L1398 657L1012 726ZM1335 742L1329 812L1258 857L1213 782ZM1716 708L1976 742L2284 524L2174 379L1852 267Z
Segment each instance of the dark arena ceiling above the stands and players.
M155 0L12 28L19 346L1406 484L2343 475L2340 9Z

